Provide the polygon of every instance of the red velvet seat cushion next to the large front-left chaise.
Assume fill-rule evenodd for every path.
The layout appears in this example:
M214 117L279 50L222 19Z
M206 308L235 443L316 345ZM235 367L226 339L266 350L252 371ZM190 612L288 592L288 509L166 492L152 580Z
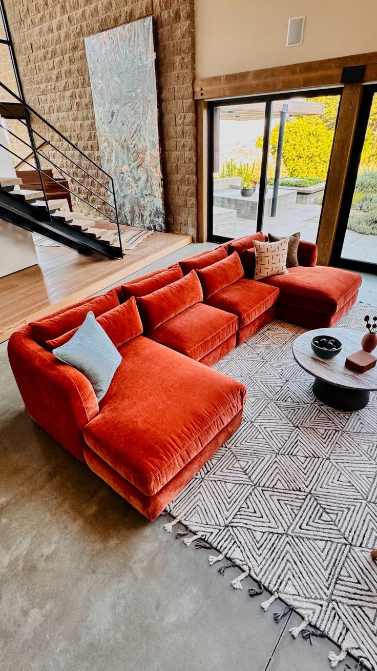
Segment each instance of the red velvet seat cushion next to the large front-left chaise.
M237 329L235 315L211 305L196 303L165 321L149 334L149 338L199 361Z

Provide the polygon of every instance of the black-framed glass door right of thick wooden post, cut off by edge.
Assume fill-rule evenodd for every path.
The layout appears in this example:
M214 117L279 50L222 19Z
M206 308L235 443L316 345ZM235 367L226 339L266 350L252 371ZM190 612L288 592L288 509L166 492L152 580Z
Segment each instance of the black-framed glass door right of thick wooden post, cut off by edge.
M377 272L376 85L364 89L331 262Z

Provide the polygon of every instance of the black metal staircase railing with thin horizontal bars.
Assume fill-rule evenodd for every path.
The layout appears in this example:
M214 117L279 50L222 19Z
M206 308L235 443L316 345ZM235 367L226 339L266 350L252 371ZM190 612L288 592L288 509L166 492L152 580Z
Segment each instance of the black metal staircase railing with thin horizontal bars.
M31 107L30 105L27 105L27 103L23 99L21 99L21 97L19 97L15 93L13 93L13 91L11 91L11 89L9 89L7 86L5 86L5 84L0 82L0 87L2 89L4 89L5 91L7 91L7 93L9 95L11 95L18 103L21 103L21 105L23 106L25 121L22 121L19 118L19 116L9 112L9 108L7 109L7 116L11 117L11 118L14 118L19 123L22 123L25 126L25 128L27 130L27 134L29 136L30 144L28 142L26 142L23 138L18 136L15 132L10 130L9 127L7 127L6 125L3 125L3 123L0 123L0 127L3 127L6 130L6 132L10 136L12 136L13 138L16 138L18 142L21 142L21 144L23 144L23 145L27 146L27 148L31 149L31 152L29 152L29 154L26 157L22 157L22 156L19 156L17 153L15 153L8 146L5 146L5 145L0 143L0 147L7 150L10 154L15 156L15 158L18 158L23 164L29 166L33 170L37 170L39 178L40 178L41 189L42 189L42 193L43 193L43 196L44 196L44 201L46 203L46 210L47 210L47 213L48 213L48 217L50 218L50 221L53 221L53 218L52 218L52 215L50 213L50 208L49 208L49 205L48 205L48 197L47 197L47 193L46 193L44 178L45 178L45 180L48 180L51 183L55 183L56 185L59 186L60 189L64 189L65 191L70 193L70 195L74 196L75 198L78 198L80 201L85 203L86 206L96 210L97 213L102 215L104 218L108 219L108 221L112 221L112 223L115 223L117 225L117 231L118 231L118 236L119 236L119 246L120 246L120 249L121 249L121 256L123 257L122 240L121 240L121 228L119 226L117 200L115 198L114 180L113 180L112 176L110 174L108 174L108 172L106 172L106 170L104 170L100 165L98 165L98 163L96 163L96 161L94 161L92 158L90 158L90 156L88 156L88 154L85 154L80 148L78 148L78 146L76 146L74 144L74 142L72 142L72 140L70 140L69 138L64 136L64 134L62 134L60 132L60 130L58 130L56 127L54 127L52 125L52 123L50 123L50 121L47 121L47 119L44 119L44 117L42 117L42 115L40 115L39 112L37 112L35 109L33 109L33 107ZM3 107L4 107L4 104L0 102L0 115L1 115L1 109ZM54 144L49 138L46 138L39 131L37 131L35 128L33 128L33 126L31 125L31 116L35 116L37 119L39 119L39 121L42 121L42 123L44 123L50 131L52 131L59 138L64 140L64 142L66 142L70 146L70 148L72 148L75 152L78 152L78 154L80 154L80 157L82 157L84 160L90 162L91 166L94 167L94 169L96 171L96 174L97 175L98 175L98 173L102 174L103 175L102 179L106 183L101 182L96 176L94 176L94 174L91 174L90 172L88 172L88 170L86 170L86 168L84 168L82 165L80 165L78 162L76 162L73 158L70 158L70 156L68 156L68 154L64 153L60 148L58 148L56 146L56 144ZM40 140L42 140L41 144L38 144L38 145L35 144L35 136L37 138L39 138ZM46 149L46 147L51 148L54 152L57 152L58 154L63 156L64 160L67 160L71 164L76 166L76 168L78 168L78 170L82 171L86 176L88 176L88 178L90 178L90 180L94 180L94 182L96 182L99 185L102 193L104 193L104 191L105 191L110 195L110 199L112 200L112 202L107 201L106 199L104 199L102 197L102 195L99 195L99 193L96 193L96 191L93 191L92 189L90 189L90 187L88 187L88 185L86 185L80 179L76 178L73 174L71 174L67 170L64 170L64 168L62 168L62 166L58 166L58 164L56 164L56 162L54 162L50 158L50 156L48 156L46 154L46 152L43 151L43 149ZM29 162L29 160L28 160L29 158L30 158L30 160L33 160L35 162L35 165L33 165ZM47 161L48 164L50 164L50 166L55 168L55 170L57 170L61 175L65 175L68 178L68 180L70 180L68 182L69 186L65 187L64 185L62 185L61 181L58 181L56 178L54 178L50 174L47 174L46 172L44 172L44 169L41 166L40 158L42 158L44 161ZM80 158L78 158L77 160L80 160ZM101 203L103 203L104 207L105 207L105 211L102 211L100 209L101 206L96 207L96 205L93 205L92 203L90 203L85 197L82 197L81 195L76 193L76 191L73 191L73 189L70 188L70 184L72 182L79 185L79 187L80 187L79 190L82 190L81 193L84 193L84 192L86 192L87 194L90 193L96 198L97 201L100 201ZM107 209L107 211L106 211L106 209Z

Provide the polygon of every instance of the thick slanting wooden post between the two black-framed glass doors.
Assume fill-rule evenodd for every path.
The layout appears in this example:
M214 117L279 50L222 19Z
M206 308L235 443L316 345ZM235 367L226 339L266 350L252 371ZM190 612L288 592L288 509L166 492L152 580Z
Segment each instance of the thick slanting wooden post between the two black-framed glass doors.
M321 266L328 266L331 260L362 93L362 84L347 84L340 101L317 238L318 264Z

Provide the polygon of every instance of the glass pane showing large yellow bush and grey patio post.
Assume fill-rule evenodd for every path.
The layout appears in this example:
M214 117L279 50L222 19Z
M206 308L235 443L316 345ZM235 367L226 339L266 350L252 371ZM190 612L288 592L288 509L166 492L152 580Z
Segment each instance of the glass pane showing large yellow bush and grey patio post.
M263 230L315 242L340 95L274 101ZM258 140L258 142L261 141Z

